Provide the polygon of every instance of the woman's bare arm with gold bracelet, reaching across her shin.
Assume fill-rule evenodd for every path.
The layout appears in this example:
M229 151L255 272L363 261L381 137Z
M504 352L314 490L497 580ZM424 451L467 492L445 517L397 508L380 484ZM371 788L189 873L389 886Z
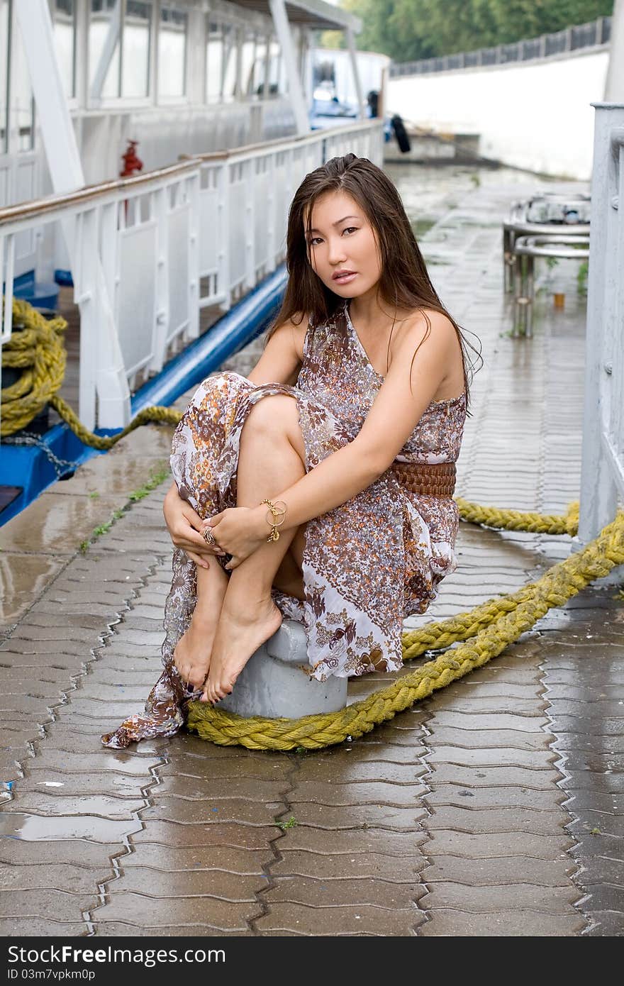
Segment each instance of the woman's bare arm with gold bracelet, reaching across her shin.
M427 338L422 317L406 326L392 353L385 381L353 442L323 459L275 498L288 507L282 529L298 528L352 499L375 482L396 458L441 383L450 375L454 361L461 359L451 321L436 313L431 313L430 318L432 331ZM421 342L410 377L412 357ZM256 541L268 531L264 505L245 513L247 517L242 517L241 522L226 516L234 511L224 511L208 522L211 527L222 525L215 528L215 536L237 560L249 553L243 547L245 528ZM228 520L232 523L225 523Z

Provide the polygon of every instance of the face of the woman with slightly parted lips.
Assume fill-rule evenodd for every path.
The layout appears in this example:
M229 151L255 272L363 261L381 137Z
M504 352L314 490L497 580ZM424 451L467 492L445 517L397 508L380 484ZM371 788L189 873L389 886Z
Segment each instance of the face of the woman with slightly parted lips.
M330 291L340 298L359 298L375 287L381 277L377 236L351 195L321 195L312 206L311 225L312 269ZM340 276L342 272L348 273Z

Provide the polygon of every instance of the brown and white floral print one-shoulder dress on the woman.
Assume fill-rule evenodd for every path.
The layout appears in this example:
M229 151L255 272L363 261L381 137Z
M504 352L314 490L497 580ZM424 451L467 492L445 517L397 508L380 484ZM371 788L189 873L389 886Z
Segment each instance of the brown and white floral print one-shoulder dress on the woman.
M262 397L297 400L306 468L353 441L383 378L371 365L349 317L348 300L322 324L310 325L296 387L255 386L236 373L218 373L198 387L173 435L172 471L178 491L202 517L235 507L241 433ZM396 457L402 462L453 462L466 417L465 393L432 401ZM425 612L442 579L454 571L459 515L451 497L407 492L388 469L371 486L306 527L305 600L274 590L285 617L300 620L308 639L312 677L357 675L401 667L405 617ZM222 560L225 564L229 556ZM173 551L172 589L165 605L164 671L145 710L130 716L104 745L173 736L190 690L173 666L173 649L195 605L195 565Z

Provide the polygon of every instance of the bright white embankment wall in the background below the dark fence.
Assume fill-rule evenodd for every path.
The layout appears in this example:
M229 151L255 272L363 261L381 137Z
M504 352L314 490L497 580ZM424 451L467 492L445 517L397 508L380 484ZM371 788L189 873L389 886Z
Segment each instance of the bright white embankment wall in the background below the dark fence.
M388 79L387 110L443 132L481 135L506 165L588 180L593 108L604 96L608 49L547 61Z

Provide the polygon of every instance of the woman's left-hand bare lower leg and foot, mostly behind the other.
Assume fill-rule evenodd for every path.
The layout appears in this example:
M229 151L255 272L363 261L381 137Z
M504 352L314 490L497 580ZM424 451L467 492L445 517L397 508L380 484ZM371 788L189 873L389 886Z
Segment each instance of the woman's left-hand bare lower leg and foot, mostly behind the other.
M228 576L216 558L210 559L210 568L197 565L196 569L197 600L190 626L175 645L173 664L182 681L188 681L194 688L201 688L210 668Z

